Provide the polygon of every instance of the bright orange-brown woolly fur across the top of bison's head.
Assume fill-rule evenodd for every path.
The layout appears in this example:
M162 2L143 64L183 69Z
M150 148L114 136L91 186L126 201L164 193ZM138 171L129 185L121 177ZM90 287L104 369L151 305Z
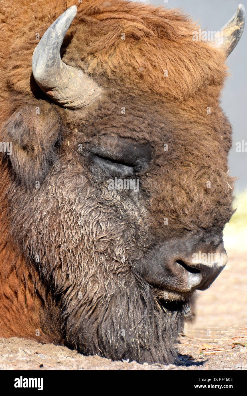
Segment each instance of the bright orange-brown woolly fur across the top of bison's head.
M78 11L65 37L65 44L70 42L65 63L86 67L92 75L104 73L118 84L123 81L169 101L190 99L190 111L195 93L203 93L209 86L212 100L218 99L226 76L224 55L205 42L192 41L192 33L199 27L180 10L121 0L37 0L23 1L18 7L14 0L2 1L0 69L2 91L6 89L2 99L10 103L17 95L36 94L31 77L36 34L41 38L73 4ZM168 78L164 70L168 70ZM4 107L2 118L7 111Z

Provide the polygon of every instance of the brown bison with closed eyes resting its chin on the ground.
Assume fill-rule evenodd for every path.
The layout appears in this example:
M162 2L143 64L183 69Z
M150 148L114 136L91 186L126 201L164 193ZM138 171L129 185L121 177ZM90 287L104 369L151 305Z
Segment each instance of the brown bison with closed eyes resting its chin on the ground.
M178 362L227 262L219 98L244 20L205 39L180 10L1 2L0 336Z

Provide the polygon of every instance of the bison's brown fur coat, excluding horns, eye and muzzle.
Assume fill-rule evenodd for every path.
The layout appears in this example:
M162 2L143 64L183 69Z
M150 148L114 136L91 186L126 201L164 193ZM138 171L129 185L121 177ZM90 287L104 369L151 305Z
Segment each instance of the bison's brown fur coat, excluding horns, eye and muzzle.
M89 109L65 112L51 104L34 82L31 59L38 43L35 34L41 37L73 4L78 13L63 43L63 61L90 74L104 95ZM172 361L171 344L181 329L185 308L178 304L176 310L164 303L159 308L165 312L161 320L153 288L138 274L131 276L130 267L123 266L119 256L127 251L128 257L138 260L147 254L145 249L167 238L186 232L219 234L229 221L232 194L228 185L233 181L226 171L231 127L219 107L226 77L224 55L204 42L193 42L192 32L198 28L178 10L121 0L23 1L18 8L16 2L4 1L0 7L0 140L13 141L14 152L11 158L4 156L1 165L1 224L5 226L0 240L4 268L0 335L35 338L35 329L41 329L43 341L65 339L84 353ZM121 40L122 32L125 40ZM126 107L124 115L122 106ZM152 147L152 166L142 177L141 206L128 206L124 192L120 201L109 196L104 181L92 177L78 154L79 143L85 145L115 130L119 137L134 136ZM170 148L167 154L165 143ZM36 180L41 187L32 190ZM77 183L81 194L86 194L85 202L98 202L91 208L92 218L78 202ZM100 211L103 203L105 212ZM84 213L83 235L69 217L72 209L76 215ZM164 217L167 228L161 227ZM33 263L37 251L40 267ZM84 263L82 268L73 257ZM79 290L83 290L84 305L75 299ZM138 324L144 300L153 319L149 315ZM127 346L116 341L118 349L112 352L123 326L120 322L125 320L118 301L129 318L135 307L137 316L130 322L136 333L126 337ZM47 312L48 305L52 309ZM88 322L79 324L79 318ZM172 320L177 321L176 329L174 322L168 328ZM147 326L152 337L146 333ZM99 328L101 339L96 337ZM166 351L159 350L165 332ZM133 337L138 340L135 346L131 346ZM144 345L149 345L150 353Z

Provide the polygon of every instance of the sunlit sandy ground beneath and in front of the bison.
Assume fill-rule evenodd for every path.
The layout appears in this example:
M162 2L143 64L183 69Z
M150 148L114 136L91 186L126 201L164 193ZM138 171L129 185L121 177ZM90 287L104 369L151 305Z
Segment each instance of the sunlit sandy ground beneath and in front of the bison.
M0 339L0 369L247 370L247 262L234 253L228 256L214 284L198 293L195 322L186 324L178 343L180 366L112 362L64 346L10 338Z

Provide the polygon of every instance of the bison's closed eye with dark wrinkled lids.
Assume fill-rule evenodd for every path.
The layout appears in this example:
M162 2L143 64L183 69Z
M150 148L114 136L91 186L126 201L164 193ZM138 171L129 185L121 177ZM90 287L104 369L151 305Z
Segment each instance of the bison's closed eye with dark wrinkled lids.
M124 178L143 174L151 160L151 147L148 144L118 136L103 135L91 144L86 144L85 148L87 163L92 171L101 172L107 177Z

